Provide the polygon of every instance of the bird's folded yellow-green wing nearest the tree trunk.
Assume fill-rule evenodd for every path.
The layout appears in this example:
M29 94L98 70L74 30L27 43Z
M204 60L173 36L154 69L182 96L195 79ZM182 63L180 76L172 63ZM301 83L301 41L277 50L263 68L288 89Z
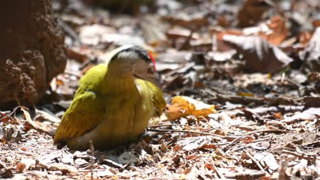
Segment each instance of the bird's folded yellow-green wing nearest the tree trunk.
M103 119L105 103L103 97L95 91L107 72L107 65L92 67L79 80L80 87L72 104L64 113L62 121L55 132L55 142L66 142L72 138L90 132Z

